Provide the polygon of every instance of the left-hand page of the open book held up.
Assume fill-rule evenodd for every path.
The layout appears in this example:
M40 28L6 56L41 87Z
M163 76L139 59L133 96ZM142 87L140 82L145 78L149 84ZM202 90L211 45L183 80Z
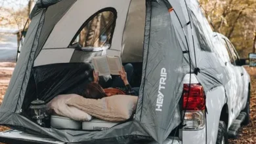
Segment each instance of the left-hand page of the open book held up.
M106 56L96 56L93 58L93 65L95 72L98 72L98 76L110 75L110 69L108 68L108 61Z

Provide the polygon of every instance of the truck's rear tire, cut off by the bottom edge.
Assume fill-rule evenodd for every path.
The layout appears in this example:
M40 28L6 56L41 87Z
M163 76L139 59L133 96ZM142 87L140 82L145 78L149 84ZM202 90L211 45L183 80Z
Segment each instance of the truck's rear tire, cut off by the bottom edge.
M223 121L219 121L218 135L216 144L227 144L228 143L228 131L226 124Z

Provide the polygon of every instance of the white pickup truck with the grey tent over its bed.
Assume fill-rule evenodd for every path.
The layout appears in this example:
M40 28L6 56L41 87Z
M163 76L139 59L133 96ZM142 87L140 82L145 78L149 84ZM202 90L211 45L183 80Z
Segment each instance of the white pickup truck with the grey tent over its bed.
M186 115L184 115L184 128L179 130L179 139L169 137L165 143L228 143L228 137L236 137L241 124L249 123L249 98L250 98L250 77L241 65L244 60L240 60L234 46L230 41L219 33L215 33L213 39L218 50L223 57L223 62L228 67L228 73L232 77L225 86L213 88L205 94L205 107L207 113L200 111L190 111L198 105L188 105ZM218 43L218 44L217 44ZM222 77L217 76L217 77ZM186 75L183 80L184 90L186 84L190 83L190 75ZM196 75L191 75L191 92L203 90L196 79ZM199 93L200 94L200 93ZM203 94L203 93L201 93ZM228 95L226 95L228 94ZM186 100L186 97L183 97ZM198 104L198 103L197 103ZM205 107L202 108L205 111ZM206 114L206 115L205 115ZM196 117L191 117L191 116ZM174 136L174 135L173 135ZM37 135L26 134L18 130L9 130L0 133L0 141L18 143L62 143L54 139L41 138Z

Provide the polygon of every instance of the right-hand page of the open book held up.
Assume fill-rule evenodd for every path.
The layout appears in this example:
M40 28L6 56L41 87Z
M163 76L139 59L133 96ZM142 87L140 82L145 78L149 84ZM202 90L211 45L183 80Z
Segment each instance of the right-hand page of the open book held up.
M107 56L107 59L111 75L119 75L119 71L122 69L121 58L119 56Z

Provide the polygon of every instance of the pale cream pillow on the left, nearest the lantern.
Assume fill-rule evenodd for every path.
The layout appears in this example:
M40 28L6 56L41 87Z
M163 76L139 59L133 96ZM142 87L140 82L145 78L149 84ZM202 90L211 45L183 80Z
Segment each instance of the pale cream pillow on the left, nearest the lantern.
M81 96L77 94L66 94L56 96L53 100L47 103L47 111L49 113L72 118L78 121L90 121L92 119L91 115L88 115L80 109L66 105L66 101L68 101L69 99L80 97Z

